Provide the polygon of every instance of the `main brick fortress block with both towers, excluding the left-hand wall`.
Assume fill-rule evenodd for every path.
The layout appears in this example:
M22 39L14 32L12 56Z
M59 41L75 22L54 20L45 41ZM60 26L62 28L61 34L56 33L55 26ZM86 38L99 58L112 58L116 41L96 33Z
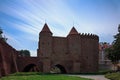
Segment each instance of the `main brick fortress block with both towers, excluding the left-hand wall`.
M60 68L62 73L98 71L97 35L81 34L73 27L67 37L56 37L45 23L38 44L37 55L43 72L50 72L52 67Z

